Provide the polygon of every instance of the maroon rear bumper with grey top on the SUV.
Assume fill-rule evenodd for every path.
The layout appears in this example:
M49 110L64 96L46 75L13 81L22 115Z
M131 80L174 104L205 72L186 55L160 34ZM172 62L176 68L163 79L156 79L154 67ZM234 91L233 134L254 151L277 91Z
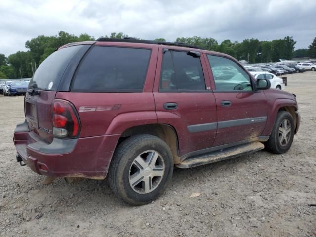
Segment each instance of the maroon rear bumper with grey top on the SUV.
M120 135L57 139L48 144L19 124L13 136L18 156L34 172L54 177L104 179Z

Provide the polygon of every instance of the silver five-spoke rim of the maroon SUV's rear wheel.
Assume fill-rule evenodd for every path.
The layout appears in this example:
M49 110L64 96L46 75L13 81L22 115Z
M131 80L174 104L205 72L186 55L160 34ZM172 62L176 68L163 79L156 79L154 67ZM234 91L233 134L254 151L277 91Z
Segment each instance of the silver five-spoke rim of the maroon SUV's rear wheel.
M154 150L138 155L129 168L129 184L139 194L148 194L160 184L165 170L162 156Z

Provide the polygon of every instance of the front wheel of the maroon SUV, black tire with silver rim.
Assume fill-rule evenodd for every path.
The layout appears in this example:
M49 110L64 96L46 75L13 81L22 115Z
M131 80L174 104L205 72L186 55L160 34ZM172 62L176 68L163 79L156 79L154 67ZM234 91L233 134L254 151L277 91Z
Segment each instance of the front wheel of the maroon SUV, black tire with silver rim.
M287 111L279 111L270 138L265 142L265 148L276 154L287 152L294 138L294 120Z

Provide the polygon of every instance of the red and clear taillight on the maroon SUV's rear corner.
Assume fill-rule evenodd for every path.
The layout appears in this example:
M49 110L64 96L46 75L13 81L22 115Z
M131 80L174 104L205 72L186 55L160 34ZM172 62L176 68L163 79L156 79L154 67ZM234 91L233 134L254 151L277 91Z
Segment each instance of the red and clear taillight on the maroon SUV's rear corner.
M58 138L77 137L80 120L75 107L66 100L54 100L52 108L54 136Z

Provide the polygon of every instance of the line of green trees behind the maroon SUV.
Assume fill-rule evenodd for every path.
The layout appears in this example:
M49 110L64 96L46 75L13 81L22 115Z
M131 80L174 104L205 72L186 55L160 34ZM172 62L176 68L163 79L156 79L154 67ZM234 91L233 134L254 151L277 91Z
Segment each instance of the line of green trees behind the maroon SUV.
M128 35L122 32L112 32L108 38L124 38ZM139 38L138 38L139 39ZM56 36L40 35L27 40L25 47L27 51L18 51L6 57L0 54L0 79L7 78L28 78L40 63L45 60L56 48L71 42L95 40L88 34L75 36L64 31L58 32ZM166 41L164 38L157 38L156 41ZM237 60L246 60L249 63L276 62L279 59L292 59L293 57L316 57L316 37L309 46L309 49L297 49L294 51L292 36L272 41L260 41L258 39L245 39L242 42L224 40L220 44L214 38L178 37L175 42L192 44L203 47L207 50L229 54Z

